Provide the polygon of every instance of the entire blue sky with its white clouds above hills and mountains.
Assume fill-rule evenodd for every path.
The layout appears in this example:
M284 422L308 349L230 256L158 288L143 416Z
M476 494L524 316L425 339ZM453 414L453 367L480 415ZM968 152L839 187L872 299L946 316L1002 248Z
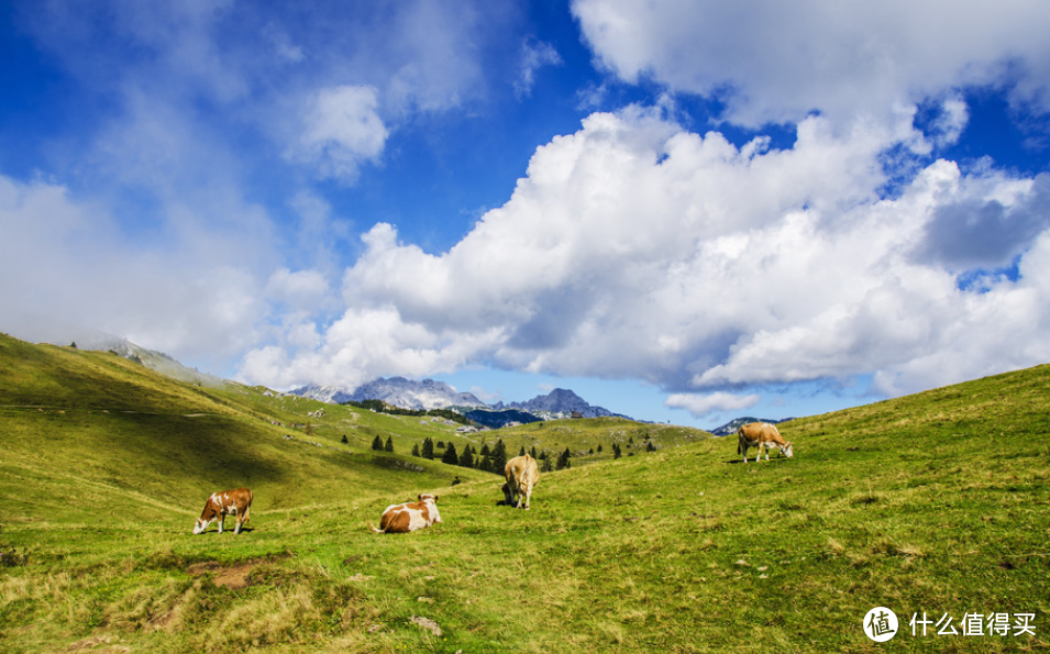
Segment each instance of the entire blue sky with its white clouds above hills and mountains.
M0 7L0 330L712 428L1050 361L1050 5Z

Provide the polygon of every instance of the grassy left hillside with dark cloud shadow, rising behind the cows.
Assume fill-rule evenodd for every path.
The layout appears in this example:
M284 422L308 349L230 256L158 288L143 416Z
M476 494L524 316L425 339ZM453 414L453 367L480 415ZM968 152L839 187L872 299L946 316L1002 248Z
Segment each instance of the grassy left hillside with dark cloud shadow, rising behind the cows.
M375 435L399 430L393 417L286 404L259 389L187 385L114 354L0 335L0 521L99 511L139 520L142 502L189 514L236 486L252 486L265 510L488 477L406 456L407 440L394 454L373 452ZM318 411L329 420L309 415Z

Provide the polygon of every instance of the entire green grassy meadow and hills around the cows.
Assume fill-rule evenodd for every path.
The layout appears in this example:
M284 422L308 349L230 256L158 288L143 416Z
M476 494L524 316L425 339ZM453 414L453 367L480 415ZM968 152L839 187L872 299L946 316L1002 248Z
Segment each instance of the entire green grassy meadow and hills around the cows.
M734 437L625 420L457 434L0 336L0 652L1050 647L1050 367L781 432L794 458L748 464ZM425 437L572 467L517 511L500 477L411 456ZM236 486L248 529L191 535ZM368 530L420 492L442 523ZM899 619L884 643L875 607Z

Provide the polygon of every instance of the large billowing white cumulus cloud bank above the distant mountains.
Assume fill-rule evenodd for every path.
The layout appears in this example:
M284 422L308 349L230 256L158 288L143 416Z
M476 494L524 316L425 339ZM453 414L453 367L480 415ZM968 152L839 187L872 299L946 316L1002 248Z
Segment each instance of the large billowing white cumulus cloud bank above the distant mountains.
M725 403L711 393L858 374L903 392L1042 361L1050 331L1032 325L1050 302L1028 277L1047 256L1031 245L1050 226L1041 178L941 160L882 198L880 153L894 138L863 122L837 136L810 117L775 151L655 111L594 114L540 147L508 202L447 252L375 225L344 276L344 317L303 355L316 361L289 367L316 376L339 362L366 378L487 364ZM990 206L994 225L982 223ZM960 258L931 237L960 211L974 231L1012 235ZM953 262L1010 254L1019 279L960 284L968 268ZM1025 348L1010 348L1013 330Z

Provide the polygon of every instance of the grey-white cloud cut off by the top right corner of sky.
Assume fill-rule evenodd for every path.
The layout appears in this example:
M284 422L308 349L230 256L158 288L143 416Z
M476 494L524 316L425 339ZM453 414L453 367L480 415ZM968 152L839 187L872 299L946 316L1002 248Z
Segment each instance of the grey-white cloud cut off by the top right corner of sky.
M1050 4L1004 0L574 0L585 37L620 78L718 95L747 125L892 121L895 107L944 89L997 84L1023 62L1015 93L1050 110ZM1013 69L1016 70L1016 67Z

